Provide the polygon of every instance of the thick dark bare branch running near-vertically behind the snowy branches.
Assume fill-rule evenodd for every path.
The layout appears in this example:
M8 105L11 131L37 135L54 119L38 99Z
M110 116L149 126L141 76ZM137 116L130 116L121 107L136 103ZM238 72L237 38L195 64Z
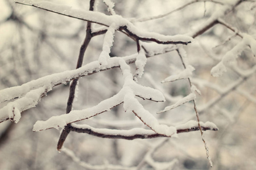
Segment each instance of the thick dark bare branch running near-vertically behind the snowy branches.
M93 6L94 6L94 0L90 0L90 7L89 10L93 11ZM80 68L82 66L82 61L84 60L84 53L85 50L87 49L90 40L92 39L92 29L91 29L91 22L87 23L86 26L86 36L83 44L81 45L80 52L79 52L79 58L77 59L77 65L76 69ZM79 78L72 80L71 86L69 87L69 97L68 97L68 103L67 103L67 108L66 108L66 113L68 114L72 110L72 105L73 105L73 100L75 99L75 91L76 91L76 86ZM63 131L60 134L59 141L57 143L57 150L60 150L61 147L63 146L63 143L65 142L65 139L67 138L69 132L71 131L71 124L67 124Z

